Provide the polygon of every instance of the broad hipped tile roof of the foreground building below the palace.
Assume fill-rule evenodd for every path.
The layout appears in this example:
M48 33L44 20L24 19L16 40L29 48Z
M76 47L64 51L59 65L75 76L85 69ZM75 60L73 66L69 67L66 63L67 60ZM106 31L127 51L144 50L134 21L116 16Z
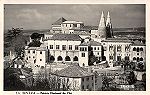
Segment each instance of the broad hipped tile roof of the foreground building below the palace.
M82 68L78 65L70 65L67 68L64 68L59 71L55 71L54 74L57 76L70 77L70 78L82 78L82 77L93 75L93 73L89 73L87 69Z

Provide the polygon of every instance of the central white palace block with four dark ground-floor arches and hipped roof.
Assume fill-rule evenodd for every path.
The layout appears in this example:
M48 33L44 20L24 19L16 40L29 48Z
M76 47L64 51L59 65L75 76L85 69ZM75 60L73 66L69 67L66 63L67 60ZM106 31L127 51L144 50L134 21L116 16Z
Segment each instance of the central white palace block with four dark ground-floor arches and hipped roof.
M54 34L47 39L51 62L78 62L82 38L76 34Z

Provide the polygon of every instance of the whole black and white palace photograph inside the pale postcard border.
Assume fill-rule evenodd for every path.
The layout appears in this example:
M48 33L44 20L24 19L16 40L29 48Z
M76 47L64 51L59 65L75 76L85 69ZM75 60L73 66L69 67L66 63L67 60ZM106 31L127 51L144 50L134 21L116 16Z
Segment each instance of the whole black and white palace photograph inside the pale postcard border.
M4 4L3 38L3 91L146 91L146 4Z

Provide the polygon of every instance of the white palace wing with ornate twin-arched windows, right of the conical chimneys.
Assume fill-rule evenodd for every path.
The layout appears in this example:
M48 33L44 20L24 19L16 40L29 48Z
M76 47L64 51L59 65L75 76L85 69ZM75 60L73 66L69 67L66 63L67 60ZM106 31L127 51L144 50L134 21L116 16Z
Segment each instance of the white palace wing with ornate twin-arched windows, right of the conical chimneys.
M102 41L104 57L109 63L110 67L113 67L114 62L130 60L131 41L123 39L109 39Z

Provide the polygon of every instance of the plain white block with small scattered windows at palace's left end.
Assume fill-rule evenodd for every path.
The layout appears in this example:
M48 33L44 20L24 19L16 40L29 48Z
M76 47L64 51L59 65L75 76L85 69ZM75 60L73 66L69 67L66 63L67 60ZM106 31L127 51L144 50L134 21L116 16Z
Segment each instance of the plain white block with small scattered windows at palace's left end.
M36 42L32 42L33 44ZM32 68L35 67L45 67L45 64L48 62L48 49L44 44L40 44L39 46L26 46L25 47L25 60L30 64Z

